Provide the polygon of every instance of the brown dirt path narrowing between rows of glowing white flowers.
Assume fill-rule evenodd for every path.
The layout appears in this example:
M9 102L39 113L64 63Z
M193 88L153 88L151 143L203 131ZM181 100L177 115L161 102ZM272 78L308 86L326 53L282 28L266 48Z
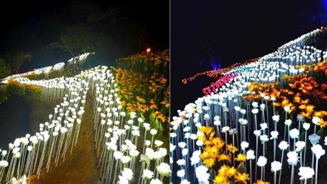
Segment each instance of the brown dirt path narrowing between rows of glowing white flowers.
M85 113L83 114L79 141L72 155L66 157L65 162L59 161L57 167L53 164L50 171L41 171L39 181L33 176L31 183L98 183L99 172L96 167L96 153L92 120L92 99L86 99Z

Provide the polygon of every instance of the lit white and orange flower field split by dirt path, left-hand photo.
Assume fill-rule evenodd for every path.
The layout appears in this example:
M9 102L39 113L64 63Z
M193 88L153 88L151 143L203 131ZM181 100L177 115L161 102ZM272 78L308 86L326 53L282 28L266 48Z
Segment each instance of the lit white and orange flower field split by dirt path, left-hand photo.
M150 54L146 57L152 62ZM139 61L144 62L124 62ZM3 79L9 91L35 94L58 105L48 121L39 124L39 132L17 138L8 151L1 150L0 180L168 182L168 143L164 141L169 127L168 72L153 69L157 70L98 66L73 77L39 79L38 74L50 71L42 68ZM60 70L65 70L63 65Z

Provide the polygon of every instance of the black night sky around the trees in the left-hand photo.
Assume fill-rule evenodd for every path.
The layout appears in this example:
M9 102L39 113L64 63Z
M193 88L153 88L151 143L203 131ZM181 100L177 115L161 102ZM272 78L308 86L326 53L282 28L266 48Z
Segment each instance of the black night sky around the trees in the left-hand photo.
M115 34L110 34L110 19L88 23L90 14L106 14L121 6L123 20L117 23ZM169 1L8 1L1 8L0 20L0 57L12 50L31 52L33 59L25 70L69 59L68 53L50 44L70 25L88 25L106 32L108 44L119 51L106 53L112 60L146 47L169 48Z

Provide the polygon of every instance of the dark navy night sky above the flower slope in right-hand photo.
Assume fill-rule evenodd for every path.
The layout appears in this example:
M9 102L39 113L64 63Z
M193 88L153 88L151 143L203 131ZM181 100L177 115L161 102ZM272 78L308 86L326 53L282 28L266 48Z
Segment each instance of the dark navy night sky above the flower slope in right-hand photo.
M326 26L327 1L171 2L172 115L202 96L212 80L181 79L210 70L210 60L226 67L275 51L280 45Z

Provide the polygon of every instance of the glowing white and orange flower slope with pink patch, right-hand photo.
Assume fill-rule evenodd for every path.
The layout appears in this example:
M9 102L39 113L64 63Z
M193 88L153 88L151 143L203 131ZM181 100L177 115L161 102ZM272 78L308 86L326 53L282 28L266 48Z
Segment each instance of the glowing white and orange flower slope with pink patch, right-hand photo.
M327 54L313 46L326 44L326 30L259 59L184 79L207 75L217 81L172 117L172 179L326 183Z

